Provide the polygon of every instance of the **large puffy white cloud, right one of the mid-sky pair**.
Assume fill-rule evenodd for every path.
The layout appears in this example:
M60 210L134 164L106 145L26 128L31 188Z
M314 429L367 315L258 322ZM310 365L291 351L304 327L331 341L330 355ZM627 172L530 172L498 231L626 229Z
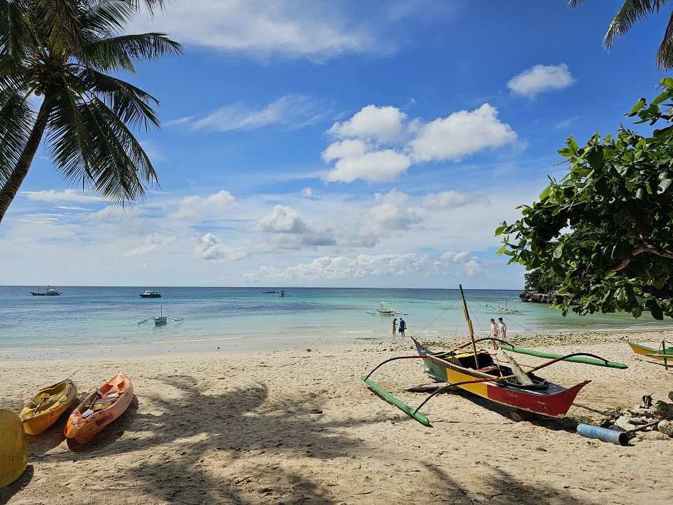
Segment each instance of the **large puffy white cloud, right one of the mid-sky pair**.
M514 142L516 133L498 120L495 107L484 104L422 125L408 147L417 162L460 161L480 150Z

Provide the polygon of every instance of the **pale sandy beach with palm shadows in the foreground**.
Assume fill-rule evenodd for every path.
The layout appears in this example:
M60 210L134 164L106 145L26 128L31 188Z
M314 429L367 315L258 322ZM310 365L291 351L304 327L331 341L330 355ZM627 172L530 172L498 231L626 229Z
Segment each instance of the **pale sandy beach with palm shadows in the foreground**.
M656 346L666 336L539 337L549 352L592 352L629 368L545 368L541 375L566 386L592 381L563 420L515 422L506 409L459 391L423 407L431 428L360 380L384 359L415 354L409 339L4 362L0 407L14 412L47 384L70 377L82 398L116 371L131 378L137 398L88 444L66 442L65 415L28 436L29 465L0 490L0 503L667 502L673 439L652 432L619 446L575 433L578 422L637 405L645 394L668 401L673 369L621 341ZM392 362L373 379L414 406L426 394L405 389L431 382L417 360Z

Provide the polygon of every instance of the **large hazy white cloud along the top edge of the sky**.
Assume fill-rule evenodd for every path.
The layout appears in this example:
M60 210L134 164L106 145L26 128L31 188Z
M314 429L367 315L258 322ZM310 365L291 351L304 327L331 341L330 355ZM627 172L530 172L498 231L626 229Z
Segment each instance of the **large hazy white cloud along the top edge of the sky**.
M190 0L168 3L154 24L139 20L133 31L165 31L183 44L247 54L316 61L376 44L369 28L339 3L316 0Z

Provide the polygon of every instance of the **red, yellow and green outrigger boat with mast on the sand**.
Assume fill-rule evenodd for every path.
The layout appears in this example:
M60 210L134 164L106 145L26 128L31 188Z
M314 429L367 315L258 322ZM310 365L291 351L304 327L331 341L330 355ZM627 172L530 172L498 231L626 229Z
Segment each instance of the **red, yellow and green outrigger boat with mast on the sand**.
M589 355L584 352L575 352L571 355L550 355L548 353L538 353L532 350L515 348L513 345L487 337L485 339L474 340L474 331L472 330L472 321L467 312L463 286L461 288L461 297L463 298L463 311L465 320L470 329L470 341L456 348L432 352L412 337L416 345L418 355L401 356L387 359L379 364L368 375L362 375L362 380L379 396L399 407L411 417L425 426L431 426L430 421L425 414L419 412L433 396L440 392L447 391L454 387L460 387L465 391L477 394L482 398L487 398L495 403L500 403L514 410L525 410L534 414L541 414L547 417L562 418L571 407L575 396L580 389L585 387L590 380L580 382L573 387L563 387L559 384L548 382L547 380L535 375L533 372L549 366L559 361L573 361L597 366L610 366L612 368L628 368L625 364L608 362L608 360L596 355ZM538 355L540 357L551 357L552 359L538 366L527 367L524 370L509 355L502 352L508 364L501 364L500 360L494 359L491 352L487 350L477 350L477 342L493 341L500 344L501 352L507 349L511 352L525 352L526 354ZM471 347L470 350L465 348ZM392 394L385 391L369 377L380 366L396 359L423 359L428 368L428 375L436 381L446 382L447 385L440 387L433 394L428 396L417 408L406 405Z

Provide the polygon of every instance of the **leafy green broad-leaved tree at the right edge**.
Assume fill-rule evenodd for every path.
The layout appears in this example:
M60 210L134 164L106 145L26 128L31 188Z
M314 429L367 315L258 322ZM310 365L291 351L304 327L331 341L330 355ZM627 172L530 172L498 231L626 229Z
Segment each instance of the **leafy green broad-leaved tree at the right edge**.
M651 104L641 98L636 123L673 119L673 79ZM673 126L641 137L621 126L580 147L570 137L559 150L568 173L522 205L523 218L502 223L499 254L527 269L562 277L564 315L644 309L673 318ZM513 240L511 240L513 235ZM572 302L572 303L571 303Z

